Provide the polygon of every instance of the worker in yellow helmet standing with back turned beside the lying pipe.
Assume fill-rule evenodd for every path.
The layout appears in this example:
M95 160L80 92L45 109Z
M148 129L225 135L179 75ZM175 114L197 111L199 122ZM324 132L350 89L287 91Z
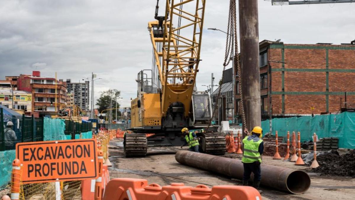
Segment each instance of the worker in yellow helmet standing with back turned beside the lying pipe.
M247 131L246 131L247 132ZM248 133L248 132L247 132ZM248 133L249 135L249 133ZM242 163L244 165L243 185L248 185L251 173L254 174L253 187L257 190L260 186L262 162L261 154L264 151L264 142L261 139L263 130L260 126L256 126L251 131L251 135L243 139L244 152ZM259 190L261 193L262 191Z

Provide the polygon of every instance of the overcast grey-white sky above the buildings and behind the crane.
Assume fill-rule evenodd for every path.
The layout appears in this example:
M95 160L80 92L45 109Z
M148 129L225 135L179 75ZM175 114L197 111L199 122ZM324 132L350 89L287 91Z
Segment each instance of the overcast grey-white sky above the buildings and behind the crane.
M355 39L355 4L272 6L259 0L260 41L315 44ZM82 81L97 74L100 91L121 90L122 106L136 97L135 78L150 69L152 45L147 22L156 0L0 0L0 79L41 71L45 77ZM160 2L163 13L164 0ZM229 0L206 0L201 85L222 74ZM239 38L239 37L238 37Z

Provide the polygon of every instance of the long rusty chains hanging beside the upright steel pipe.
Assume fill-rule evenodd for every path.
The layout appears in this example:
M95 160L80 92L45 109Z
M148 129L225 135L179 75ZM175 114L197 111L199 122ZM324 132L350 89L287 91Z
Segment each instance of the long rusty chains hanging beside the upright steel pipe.
M236 0L230 0L229 3L229 16L228 16L228 27L227 27L227 37L226 37L226 47L225 47L225 55L224 55L224 63L223 63L223 73L222 73L222 83L224 80L224 71L225 67L230 63L232 59L234 59L234 64L237 67L237 72L239 74L238 76L238 81L239 81L239 91L240 91L240 100L241 100L241 112L242 112L242 123L243 126L246 129L246 120L245 120L245 112L244 112L244 105L243 105L243 93L242 93L242 87L241 87L241 67L239 63L239 51L238 51L238 40L237 40L237 23L236 23ZM232 37L234 35L234 37ZM233 49L231 45L234 45L234 52L232 52L231 49ZM234 53L234 58L233 58L233 53ZM229 59L228 59L229 58ZM235 67L235 66L234 66ZM235 70L235 69L233 69ZM233 77L233 81L235 81L235 77ZM214 118L214 115L217 111L217 104L218 100L220 98L221 94L221 89L222 85L219 86L218 89L218 95L217 95L217 100L214 102L214 109L211 117L211 125L212 125L212 119ZM234 90L234 88L233 88ZM233 93L233 95L235 95ZM234 102L233 102L234 104ZM233 113L234 116L234 113ZM208 127L206 129L206 132L208 130Z

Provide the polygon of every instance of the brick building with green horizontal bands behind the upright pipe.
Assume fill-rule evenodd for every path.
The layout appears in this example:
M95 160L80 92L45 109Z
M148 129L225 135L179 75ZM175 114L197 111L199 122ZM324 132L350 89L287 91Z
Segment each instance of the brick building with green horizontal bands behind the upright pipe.
M264 117L269 116L270 80L273 116L338 112L344 106L345 92L346 104L355 107L355 45L284 44L264 40L260 42ZM235 99L239 107L238 94ZM235 109L237 116L239 110Z

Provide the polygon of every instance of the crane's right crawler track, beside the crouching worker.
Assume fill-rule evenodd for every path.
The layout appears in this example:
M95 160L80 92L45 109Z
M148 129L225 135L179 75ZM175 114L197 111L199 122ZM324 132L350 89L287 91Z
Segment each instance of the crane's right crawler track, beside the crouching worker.
M211 155L225 154L225 134L218 132L204 133L201 138L201 148L203 153Z

